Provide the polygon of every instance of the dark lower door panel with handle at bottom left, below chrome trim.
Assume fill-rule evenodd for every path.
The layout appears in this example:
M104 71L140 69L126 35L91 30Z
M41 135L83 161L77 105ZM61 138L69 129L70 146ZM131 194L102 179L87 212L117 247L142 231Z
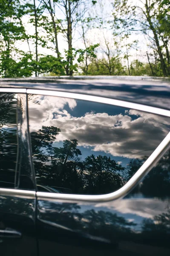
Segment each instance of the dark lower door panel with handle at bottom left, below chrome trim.
M22 195L13 191L12 196L12 191L0 191L0 252L3 256L37 255L35 192L28 195L20 192Z

